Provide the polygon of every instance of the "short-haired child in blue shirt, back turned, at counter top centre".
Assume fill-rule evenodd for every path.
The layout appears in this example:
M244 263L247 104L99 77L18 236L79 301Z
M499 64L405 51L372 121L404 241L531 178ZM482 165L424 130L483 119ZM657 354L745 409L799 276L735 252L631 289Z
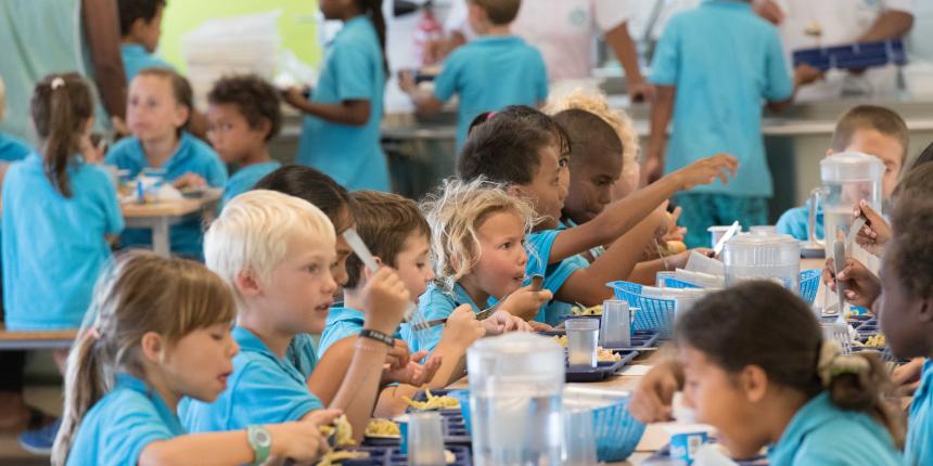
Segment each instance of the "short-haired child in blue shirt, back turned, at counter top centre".
M457 111L457 148L463 147L470 122L484 112L508 105L540 106L548 96L548 72L540 52L509 31L521 2L471 0L470 26L478 37L455 50L434 80L433 94L421 93L411 74L399 86L422 113L440 111L453 94Z

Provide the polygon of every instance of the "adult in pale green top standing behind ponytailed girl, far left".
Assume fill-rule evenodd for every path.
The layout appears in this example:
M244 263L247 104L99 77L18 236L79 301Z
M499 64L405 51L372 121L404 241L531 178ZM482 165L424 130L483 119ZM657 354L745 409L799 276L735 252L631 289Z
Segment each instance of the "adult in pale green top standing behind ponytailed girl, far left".
M33 89L43 76L63 70L93 78L98 121L107 121L106 114L123 117L126 78L119 40L115 0L0 1L0 75L8 104L0 129L35 142L29 113ZM0 351L0 430L28 429L21 443L42 453L52 446L56 424L23 399L25 354Z

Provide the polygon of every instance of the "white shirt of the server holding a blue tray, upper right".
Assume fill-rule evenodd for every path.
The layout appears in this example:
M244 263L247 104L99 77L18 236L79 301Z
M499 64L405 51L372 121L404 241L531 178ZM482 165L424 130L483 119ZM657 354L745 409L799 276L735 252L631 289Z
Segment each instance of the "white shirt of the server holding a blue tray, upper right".
M776 0L784 12L781 39L793 61L794 50L853 43L865 34L878 16L887 10L913 13L913 0ZM819 37L807 35L817 29ZM845 89L861 90L873 96L890 96L897 89L893 66L869 69L861 76L845 70L830 70L826 80L801 88L797 99L839 98Z

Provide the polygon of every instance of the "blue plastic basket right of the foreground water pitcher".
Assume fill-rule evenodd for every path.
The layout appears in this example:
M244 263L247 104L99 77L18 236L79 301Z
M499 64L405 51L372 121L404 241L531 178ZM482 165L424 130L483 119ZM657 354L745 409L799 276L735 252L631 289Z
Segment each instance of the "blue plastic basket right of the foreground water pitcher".
M628 412L628 398L592 412L596 456L600 462L621 462L638 446L644 433L641 424Z

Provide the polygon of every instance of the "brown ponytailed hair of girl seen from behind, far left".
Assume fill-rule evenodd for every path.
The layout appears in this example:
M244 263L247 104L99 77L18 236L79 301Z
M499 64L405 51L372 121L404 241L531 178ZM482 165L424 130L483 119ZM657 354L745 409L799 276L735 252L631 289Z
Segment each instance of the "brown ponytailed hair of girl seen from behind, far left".
M42 139L46 176L57 192L72 197L67 169L93 113L90 87L76 73L49 75L36 85L30 106Z

